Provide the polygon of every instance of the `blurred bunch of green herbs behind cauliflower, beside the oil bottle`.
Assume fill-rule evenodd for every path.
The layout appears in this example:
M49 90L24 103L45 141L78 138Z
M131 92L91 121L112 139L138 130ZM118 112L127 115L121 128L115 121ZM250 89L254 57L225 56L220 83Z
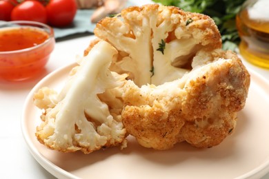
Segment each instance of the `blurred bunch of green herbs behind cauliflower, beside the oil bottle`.
M190 12L207 14L221 32L224 50L235 50L240 42L235 17L246 0L153 0L166 6L177 6ZM187 23L186 23L187 25Z

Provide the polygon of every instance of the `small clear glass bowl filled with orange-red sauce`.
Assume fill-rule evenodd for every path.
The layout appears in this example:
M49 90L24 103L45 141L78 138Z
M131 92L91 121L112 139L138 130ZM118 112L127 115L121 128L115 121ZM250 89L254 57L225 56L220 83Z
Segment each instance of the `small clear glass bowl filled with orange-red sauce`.
M54 49L50 26L34 21L0 23L0 81L23 81L36 76Z

